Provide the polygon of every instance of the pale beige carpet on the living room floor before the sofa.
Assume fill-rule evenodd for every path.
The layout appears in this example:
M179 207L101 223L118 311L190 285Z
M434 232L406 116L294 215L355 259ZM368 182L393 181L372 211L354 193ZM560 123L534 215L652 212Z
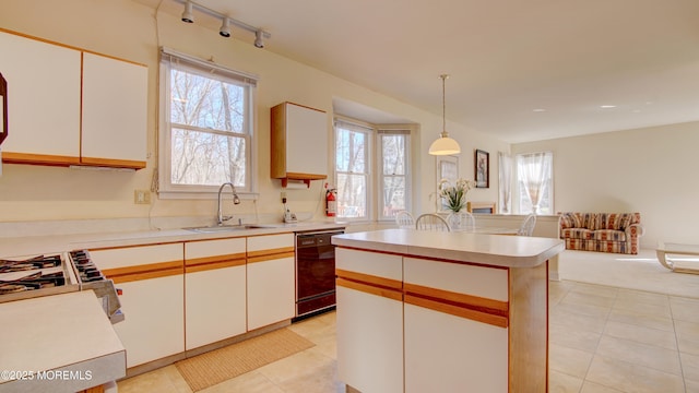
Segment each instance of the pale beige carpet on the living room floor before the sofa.
M558 257L558 274L565 281L699 298L699 275L663 267L655 250L638 255L566 250Z

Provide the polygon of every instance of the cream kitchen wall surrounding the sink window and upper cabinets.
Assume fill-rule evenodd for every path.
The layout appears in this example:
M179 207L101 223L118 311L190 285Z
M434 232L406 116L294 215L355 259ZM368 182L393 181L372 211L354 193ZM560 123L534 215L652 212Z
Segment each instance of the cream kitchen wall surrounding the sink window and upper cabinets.
M165 2L173 0L164 0ZM415 212L434 211L435 158L425 152L441 131L441 117L428 114L396 99L337 79L325 72L254 48L252 39L224 39L217 31L186 24L179 17L158 13L131 0L2 0L0 27L37 36L96 52L149 66L149 162L135 174L75 170L39 166L4 165L0 177L0 222L204 216L213 217L215 203L205 201L159 200L152 205L133 203L134 189L150 189L157 163L157 61L158 47L214 61L226 67L258 74L257 129L259 157L257 179L260 199L245 201L234 214L280 214L279 180L270 178L270 108L291 100L332 114L332 98L359 103L419 124L413 141L415 159ZM272 38L273 39L273 38ZM22 56L2 53L1 56ZM47 64L50 67L50 64ZM437 75L445 70L435 70ZM11 87L10 87L11 88ZM435 90L439 84L435 82ZM60 99L60 92L51 92ZM11 93L10 93L11 95ZM11 98L10 98L11 99ZM40 108L37 108L40 115ZM328 132L331 132L329 117ZM497 151L509 146L485 133L448 122L452 138L462 146L461 176L473 179L473 150L490 152L490 189L474 190L473 201L497 200ZM10 130L10 136L12 131ZM329 144L328 148L332 146ZM332 163L329 163L329 170ZM331 180L332 182L332 180ZM297 212L322 215L322 182L310 190L289 190L289 205Z

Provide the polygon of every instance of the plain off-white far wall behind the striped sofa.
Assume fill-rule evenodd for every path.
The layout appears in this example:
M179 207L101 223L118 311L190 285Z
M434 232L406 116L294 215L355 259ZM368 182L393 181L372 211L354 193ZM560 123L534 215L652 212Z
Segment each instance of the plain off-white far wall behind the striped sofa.
M556 212L640 212L642 248L699 242L699 122L512 145L554 152Z

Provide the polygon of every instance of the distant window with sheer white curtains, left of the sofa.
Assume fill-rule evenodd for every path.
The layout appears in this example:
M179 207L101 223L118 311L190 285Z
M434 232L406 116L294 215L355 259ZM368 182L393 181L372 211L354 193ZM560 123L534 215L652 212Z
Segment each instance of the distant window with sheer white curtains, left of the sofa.
M553 168L550 152L517 155L520 214L554 214Z

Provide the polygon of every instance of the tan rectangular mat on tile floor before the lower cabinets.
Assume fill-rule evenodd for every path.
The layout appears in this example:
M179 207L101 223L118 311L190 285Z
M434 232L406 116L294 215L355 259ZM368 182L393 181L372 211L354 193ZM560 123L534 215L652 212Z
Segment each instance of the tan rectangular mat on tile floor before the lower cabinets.
M288 329L280 329L177 361L175 366L189 388L198 392L315 345Z

